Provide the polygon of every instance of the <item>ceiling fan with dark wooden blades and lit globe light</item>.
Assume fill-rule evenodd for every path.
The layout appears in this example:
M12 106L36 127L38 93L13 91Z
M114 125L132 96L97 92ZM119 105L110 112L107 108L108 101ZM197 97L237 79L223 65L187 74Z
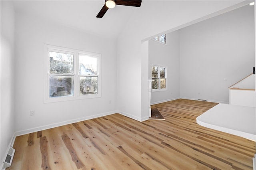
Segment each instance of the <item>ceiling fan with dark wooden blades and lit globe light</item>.
M107 12L108 8L114 8L116 5L140 7L141 0L105 0L104 6L101 8L100 12L96 17L102 18Z

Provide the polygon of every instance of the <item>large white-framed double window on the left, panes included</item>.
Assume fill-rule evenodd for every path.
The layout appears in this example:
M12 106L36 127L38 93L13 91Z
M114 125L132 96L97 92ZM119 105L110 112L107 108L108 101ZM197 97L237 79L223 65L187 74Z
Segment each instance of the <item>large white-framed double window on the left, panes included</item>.
M101 55L45 45L44 102L101 97Z

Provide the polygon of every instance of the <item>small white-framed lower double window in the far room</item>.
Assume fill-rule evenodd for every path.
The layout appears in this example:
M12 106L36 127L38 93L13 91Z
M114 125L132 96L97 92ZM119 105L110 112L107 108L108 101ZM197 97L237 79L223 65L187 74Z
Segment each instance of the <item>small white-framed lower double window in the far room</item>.
M158 65L151 66L152 91L167 90L167 67Z

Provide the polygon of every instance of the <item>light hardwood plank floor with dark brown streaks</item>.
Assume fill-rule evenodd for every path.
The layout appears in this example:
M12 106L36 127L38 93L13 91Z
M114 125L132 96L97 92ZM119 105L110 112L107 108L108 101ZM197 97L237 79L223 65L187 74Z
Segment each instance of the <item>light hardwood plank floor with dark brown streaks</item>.
M17 136L7 169L252 170L254 141L196 123L216 104L178 99L152 106L166 120L114 114Z

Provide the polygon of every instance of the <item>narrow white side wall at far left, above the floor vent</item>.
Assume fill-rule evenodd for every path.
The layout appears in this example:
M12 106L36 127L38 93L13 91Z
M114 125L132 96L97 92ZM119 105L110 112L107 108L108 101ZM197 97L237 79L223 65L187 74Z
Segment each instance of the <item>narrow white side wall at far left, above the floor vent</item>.
M1 60L0 60L0 161L14 134L14 28L15 14L12 2L1 3ZM3 17L4 16L4 17Z

